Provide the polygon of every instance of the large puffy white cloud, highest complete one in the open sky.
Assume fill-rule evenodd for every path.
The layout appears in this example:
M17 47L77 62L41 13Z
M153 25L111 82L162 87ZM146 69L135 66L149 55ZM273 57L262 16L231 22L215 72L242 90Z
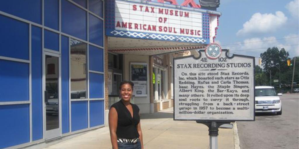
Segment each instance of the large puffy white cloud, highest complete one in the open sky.
M255 13L249 21L243 24L243 28L237 32L237 35L274 32L282 27L287 20L288 18L281 11L277 11L275 14Z

